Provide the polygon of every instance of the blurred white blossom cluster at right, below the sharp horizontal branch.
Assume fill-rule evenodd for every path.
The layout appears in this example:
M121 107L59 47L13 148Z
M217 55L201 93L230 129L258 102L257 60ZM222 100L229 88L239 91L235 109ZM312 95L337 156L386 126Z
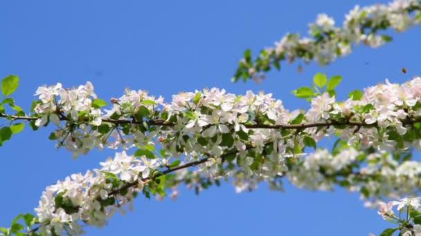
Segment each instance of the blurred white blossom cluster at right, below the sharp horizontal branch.
M339 184L361 193L366 206L375 206L385 197L398 199L420 193L421 162L401 156L384 151L366 154L352 147L335 155L317 149L292 166L287 177L299 188L331 190Z

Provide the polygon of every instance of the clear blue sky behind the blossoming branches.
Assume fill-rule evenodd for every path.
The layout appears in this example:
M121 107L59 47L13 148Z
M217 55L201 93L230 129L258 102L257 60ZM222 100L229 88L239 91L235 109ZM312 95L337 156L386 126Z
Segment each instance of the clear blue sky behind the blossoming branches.
M341 23L355 4L386 1L1 1L0 77L19 75L15 99L28 110L42 84L78 86L89 80L103 99L124 88L149 90L169 101L179 91L217 86L229 92L264 90L289 109L307 106L290 91L309 85L321 71L343 75L339 98L389 78L420 75L420 28L393 33L378 49L361 46L321 68L296 64L270 72L261 84L231 83L245 48L257 52L286 32L307 32L307 23L326 12ZM400 72L406 67L408 73ZM84 173L113 153L95 151L71 159L47 139L50 128L12 137L0 149L0 226L32 212L47 185ZM285 193L262 184L236 194L231 184L196 196L181 188L177 201L138 197L134 213L117 213L87 235L377 235L391 226L364 208L357 193L312 192L285 184Z

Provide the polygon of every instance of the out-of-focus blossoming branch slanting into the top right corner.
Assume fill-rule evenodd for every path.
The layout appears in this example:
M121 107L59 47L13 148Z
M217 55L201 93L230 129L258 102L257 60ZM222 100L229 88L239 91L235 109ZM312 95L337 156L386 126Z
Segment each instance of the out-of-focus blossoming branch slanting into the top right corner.
M334 26L334 19L327 14L319 14L316 22L309 24L309 37L288 33L275 47L261 50L256 58L252 57L251 50L246 50L232 80L261 81L271 68L280 70L281 61L292 63L302 59L310 63L314 60L325 66L337 57L350 54L360 43L376 48L391 41L392 37L381 34L382 31L403 32L420 23L421 1L418 0L395 0L388 5L377 3L363 8L355 6L346 14L341 28Z

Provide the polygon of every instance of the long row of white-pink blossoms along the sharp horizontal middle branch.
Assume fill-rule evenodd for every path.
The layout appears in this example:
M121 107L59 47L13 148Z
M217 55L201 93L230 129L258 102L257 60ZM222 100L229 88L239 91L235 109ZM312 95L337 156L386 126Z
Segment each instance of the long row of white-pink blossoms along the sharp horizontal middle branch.
M60 95L51 105L54 99L44 99L51 91L39 91L45 91L39 95L39 107L69 103ZM363 150L418 148L420 98L420 77L402 85L386 80L346 101L323 93L312 99L307 112L290 112L271 94L250 91L244 96L217 88L183 92L164 103L162 97L155 99L145 91L127 90L103 111L99 126L82 115L68 119L63 110L35 109L35 116L40 117L37 121L53 114L64 117L66 124L53 134L75 155L94 146L123 146L137 148L138 156L159 157L167 165L174 160L181 163L181 156L186 157L184 162L212 157L199 165L210 177L230 175L226 166L235 164L248 179L265 179L283 175L288 170L285 159L303 155L306 146L314 148L325 136L340 134L348 146ZM93 109L86 106L79 112L89 114Z

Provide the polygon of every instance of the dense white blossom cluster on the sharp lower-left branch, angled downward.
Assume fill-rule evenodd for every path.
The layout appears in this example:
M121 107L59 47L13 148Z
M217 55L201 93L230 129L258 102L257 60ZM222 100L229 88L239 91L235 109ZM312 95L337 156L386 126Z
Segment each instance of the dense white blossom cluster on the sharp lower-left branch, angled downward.
M159 161L150 163L123 152L100 165L100 169L73 174L46 188L35 208L39 233L79 235L82 222L103 226L117 208L124 213L122 206L129 204L132 209L132 199L143 190L145 179L159 167ZM127 185L131 183L136 184Z

